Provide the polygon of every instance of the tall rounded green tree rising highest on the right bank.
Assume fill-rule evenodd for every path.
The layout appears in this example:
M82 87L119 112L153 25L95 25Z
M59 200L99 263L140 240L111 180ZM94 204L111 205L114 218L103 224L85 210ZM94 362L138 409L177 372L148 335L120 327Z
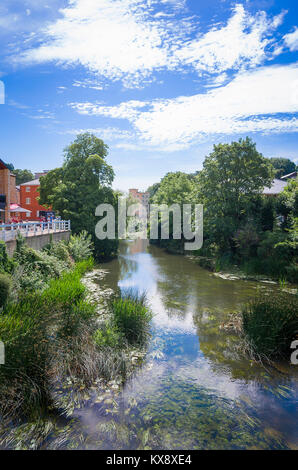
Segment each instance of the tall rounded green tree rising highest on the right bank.
M273 168L248 137L215 145L197 176L196 198L205 206L204 232L220 251L234 249L234 234L246 225L251 201L270 186Z

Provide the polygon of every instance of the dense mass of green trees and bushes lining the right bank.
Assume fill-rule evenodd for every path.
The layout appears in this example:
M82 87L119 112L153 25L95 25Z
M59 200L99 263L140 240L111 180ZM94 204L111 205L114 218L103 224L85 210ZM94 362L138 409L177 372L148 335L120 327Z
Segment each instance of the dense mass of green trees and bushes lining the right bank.
M264 196L275 172L270 162L249 138L215 145L201 171L168 173L153 185L151 202L204 205L204 245L195 253L200 264L216 270L238 265L247 275L297 282L298 182L290 180L278 197ZM183 252L184 241L172 233L151 242Z

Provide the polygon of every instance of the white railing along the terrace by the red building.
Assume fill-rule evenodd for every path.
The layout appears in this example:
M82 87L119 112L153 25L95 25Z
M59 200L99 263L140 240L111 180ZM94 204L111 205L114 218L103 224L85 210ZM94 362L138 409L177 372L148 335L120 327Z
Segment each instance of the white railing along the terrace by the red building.
M34 237L45 233L67 232L70 230L70 220L0 224L0 240L15 240L18 233L21 233L23 237Z

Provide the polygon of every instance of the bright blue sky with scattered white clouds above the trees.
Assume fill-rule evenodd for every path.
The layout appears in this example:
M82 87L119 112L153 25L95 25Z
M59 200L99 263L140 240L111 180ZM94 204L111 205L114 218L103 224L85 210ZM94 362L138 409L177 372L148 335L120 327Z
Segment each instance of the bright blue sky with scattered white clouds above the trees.
M78 132L146 189L251 136L298 162L294 0L1 0L0 157L52 169Z

